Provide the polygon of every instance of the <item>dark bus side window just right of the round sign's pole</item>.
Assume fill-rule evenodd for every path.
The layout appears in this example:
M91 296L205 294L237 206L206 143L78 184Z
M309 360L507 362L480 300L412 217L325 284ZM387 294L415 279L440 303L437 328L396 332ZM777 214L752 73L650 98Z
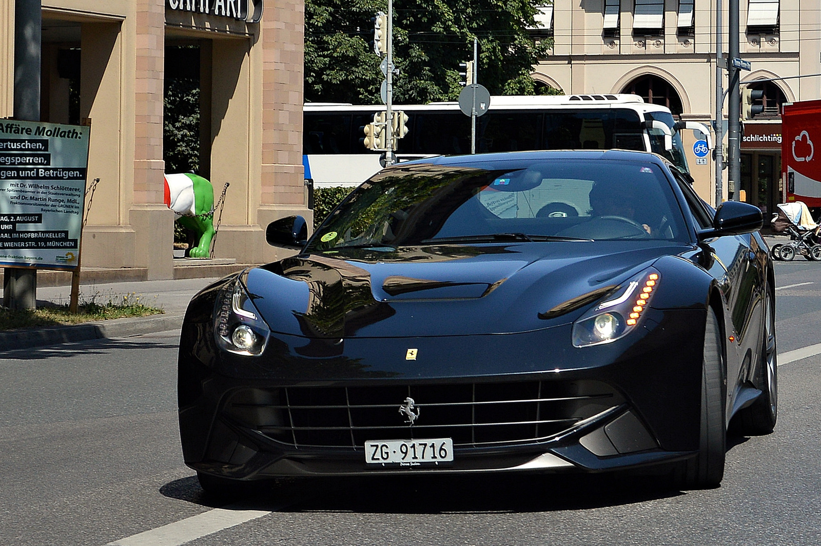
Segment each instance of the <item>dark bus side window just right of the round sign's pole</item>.
M516 152L539 149L541 126L540 113L488 112L476 118L476 151Z

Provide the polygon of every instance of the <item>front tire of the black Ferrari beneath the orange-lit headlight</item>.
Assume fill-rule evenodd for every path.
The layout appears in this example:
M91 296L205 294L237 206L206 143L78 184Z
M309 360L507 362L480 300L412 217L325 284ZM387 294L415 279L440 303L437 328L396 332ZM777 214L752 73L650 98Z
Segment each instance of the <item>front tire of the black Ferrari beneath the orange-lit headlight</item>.
M678 469L678 489L711 489L721 484L727 455L726 398L721 328L715 312L708 307L701 366L699 452Z

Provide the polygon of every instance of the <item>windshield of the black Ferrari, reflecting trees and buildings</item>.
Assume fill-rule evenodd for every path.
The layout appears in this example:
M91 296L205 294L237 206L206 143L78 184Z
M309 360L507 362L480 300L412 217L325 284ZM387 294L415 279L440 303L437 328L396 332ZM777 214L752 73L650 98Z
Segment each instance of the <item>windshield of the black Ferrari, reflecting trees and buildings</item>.
M415 164L379 172L306 250L497 241L686 238L662 167L621 160Z

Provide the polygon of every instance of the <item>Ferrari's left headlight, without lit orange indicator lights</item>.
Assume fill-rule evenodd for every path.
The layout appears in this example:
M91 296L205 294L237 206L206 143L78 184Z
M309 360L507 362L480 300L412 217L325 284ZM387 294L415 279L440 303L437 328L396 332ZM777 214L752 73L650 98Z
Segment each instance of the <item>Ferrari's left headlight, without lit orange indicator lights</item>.
M237 355L257 356L265 350L270 333L239 278L222 288L213 310L218 346Z

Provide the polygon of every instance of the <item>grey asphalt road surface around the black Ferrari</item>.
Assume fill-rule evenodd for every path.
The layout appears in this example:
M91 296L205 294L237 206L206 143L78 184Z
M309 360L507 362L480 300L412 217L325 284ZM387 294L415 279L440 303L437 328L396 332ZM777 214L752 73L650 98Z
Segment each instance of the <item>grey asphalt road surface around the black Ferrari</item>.
M776 273L779 353L795 358L821 343L821 264ZM733 438L718 489L336 479L225 508L181 461L177 335L0 354L0 544L821 544L821 348L779 367L776 431Z

